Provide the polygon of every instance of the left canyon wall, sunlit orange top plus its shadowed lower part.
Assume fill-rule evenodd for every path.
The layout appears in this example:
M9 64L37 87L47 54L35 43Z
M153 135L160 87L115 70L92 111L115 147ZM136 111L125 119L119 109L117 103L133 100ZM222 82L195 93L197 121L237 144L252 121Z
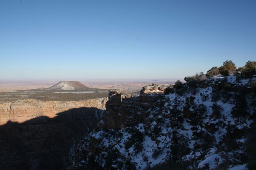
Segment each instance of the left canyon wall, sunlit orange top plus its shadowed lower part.
M107 100L1 104L0 169L65 169L80 138L102 119Z

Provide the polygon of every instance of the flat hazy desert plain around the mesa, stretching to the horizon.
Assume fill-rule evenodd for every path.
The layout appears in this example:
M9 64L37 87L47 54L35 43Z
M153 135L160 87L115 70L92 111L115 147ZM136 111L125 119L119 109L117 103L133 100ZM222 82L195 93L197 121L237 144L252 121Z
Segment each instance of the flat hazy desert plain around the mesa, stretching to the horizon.
M134 93L149 84L170 85L174 80L88 80L75 83L79 88L72 89L73 85L60 85L56 80L41 81L0 81L0 103L16 100L35 99L42 101L79 101L108 96L110 89L122 90L124 93ZM56 84L56 85L54 85ZM71 83L72 84L72 83ZM59 89L58 89L59 88ZM61 88L69 88L62 90Z

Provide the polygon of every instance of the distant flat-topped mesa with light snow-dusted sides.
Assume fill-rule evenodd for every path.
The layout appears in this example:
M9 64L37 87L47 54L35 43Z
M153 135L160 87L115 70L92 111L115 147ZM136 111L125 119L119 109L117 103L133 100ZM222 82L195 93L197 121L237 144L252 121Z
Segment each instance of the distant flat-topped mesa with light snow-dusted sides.
M60 81L56 85L47 88L46 90L87 90L89 87L83 85L79 81Z

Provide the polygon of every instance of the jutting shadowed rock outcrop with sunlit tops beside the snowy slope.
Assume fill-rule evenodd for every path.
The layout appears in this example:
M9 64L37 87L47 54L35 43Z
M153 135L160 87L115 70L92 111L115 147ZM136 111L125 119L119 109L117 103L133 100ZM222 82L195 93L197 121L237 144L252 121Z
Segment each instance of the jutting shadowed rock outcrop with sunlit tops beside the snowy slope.
M147 110L153 107L166 87L146 86L140 91L140 96L121 95L121 91L111 90L108 95L107 129L122 129L141 122Z

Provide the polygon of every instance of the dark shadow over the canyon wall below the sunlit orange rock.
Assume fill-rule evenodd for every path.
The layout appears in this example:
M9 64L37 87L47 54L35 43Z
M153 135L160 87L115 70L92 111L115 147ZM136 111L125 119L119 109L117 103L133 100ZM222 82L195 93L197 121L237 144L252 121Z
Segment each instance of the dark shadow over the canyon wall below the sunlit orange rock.
M74 108L54 118L40 116L0 126L0 169L65 169L76 144L103 110Z

